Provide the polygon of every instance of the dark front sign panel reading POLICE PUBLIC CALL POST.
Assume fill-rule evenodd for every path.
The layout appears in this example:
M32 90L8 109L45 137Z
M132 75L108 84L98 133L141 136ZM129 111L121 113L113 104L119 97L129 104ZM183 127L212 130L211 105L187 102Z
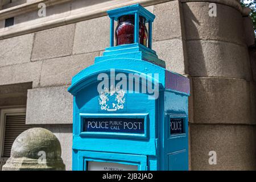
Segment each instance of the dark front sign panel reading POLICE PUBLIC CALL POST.
M83 118L83 131L144 133L144 118Z

